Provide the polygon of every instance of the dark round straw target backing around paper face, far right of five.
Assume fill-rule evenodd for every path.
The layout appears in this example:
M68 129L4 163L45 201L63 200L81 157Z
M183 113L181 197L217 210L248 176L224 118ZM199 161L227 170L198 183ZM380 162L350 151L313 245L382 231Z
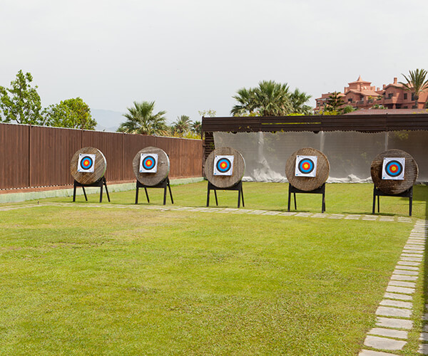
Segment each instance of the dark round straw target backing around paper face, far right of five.
M402 157L405 159L404 179L382 179L382 166L385 157ZM381 192L385 194L400 194L411 188L414 182L416 182L418 167L416 161L407 152L402 150L387 150L374 157L370 167L370 173L372 174L374 187Z

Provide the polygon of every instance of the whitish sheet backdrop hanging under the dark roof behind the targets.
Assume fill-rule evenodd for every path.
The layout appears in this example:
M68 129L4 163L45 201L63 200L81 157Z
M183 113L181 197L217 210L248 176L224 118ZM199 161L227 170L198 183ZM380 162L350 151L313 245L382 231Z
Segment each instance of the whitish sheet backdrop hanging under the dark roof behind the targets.
M406 151L419 166L418 182L428 182L428 131L405 132L214 132L215 147L233 147L245 159L243 180L287 182L285 163L293 152L312 147L330 162L327 182L372 182L370 165L384 150Z

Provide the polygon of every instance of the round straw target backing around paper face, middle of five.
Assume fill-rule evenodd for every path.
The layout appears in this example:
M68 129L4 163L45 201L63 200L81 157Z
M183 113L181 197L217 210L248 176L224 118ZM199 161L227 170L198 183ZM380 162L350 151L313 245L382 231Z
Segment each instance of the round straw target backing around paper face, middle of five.
M232 175L215 175L215 156L233 156ZM244 177L245 160L243 155L232 147L219 147L213 150L205 161L205 177L218 188L230 188L238 184Z

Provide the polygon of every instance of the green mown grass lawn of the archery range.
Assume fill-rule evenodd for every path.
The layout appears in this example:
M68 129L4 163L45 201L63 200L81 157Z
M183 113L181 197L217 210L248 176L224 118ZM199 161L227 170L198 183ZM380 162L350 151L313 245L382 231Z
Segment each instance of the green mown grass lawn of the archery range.
M285 210L285 187L245 183L245 208ZM369 214L371 187L328 185L327 213ZM173 187L175 203L205 206L205 189ZM413 226L146 209L161 189L123 209L134 194L0 211L1 355L357 355ZM425 219L428 188L414 196ZM235 207L237 192L218 198ZM321 209L318 195L297 204ZM407 199L381 204L407 215Z

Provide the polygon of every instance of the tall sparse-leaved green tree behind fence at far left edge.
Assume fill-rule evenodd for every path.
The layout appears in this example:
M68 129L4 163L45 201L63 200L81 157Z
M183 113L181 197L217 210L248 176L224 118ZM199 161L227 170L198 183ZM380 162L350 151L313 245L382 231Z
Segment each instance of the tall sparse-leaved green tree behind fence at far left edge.
M41 100L37 93L37 85L33 88L31 73L16 74L16 80L11 81L11 88L0 86L0 108L4 122L16 121L19 124L44 125L41 115ZM1 116L0 116L1 119Z

